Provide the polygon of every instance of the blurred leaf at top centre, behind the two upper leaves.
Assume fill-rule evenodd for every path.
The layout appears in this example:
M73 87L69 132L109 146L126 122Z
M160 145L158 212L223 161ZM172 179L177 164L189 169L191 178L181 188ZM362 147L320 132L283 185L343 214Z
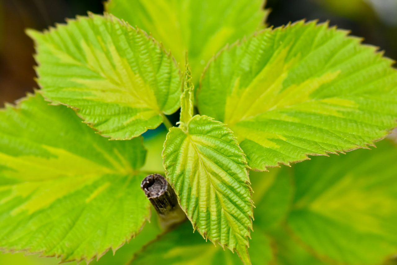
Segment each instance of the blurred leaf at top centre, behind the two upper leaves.
M221 48L263 27L263 6L264 0L110 0L105 9L152 34L181 65L188 50L196 83Z

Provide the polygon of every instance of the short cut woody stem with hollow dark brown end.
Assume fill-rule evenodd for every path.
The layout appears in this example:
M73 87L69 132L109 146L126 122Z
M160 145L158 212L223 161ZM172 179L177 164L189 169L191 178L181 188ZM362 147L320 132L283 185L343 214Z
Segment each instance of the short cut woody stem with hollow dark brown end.
M170 230L187 219L186 214L179 206L175 191L162 175L147 176L141 183L141 189L156 209L160 225L164 230Z

